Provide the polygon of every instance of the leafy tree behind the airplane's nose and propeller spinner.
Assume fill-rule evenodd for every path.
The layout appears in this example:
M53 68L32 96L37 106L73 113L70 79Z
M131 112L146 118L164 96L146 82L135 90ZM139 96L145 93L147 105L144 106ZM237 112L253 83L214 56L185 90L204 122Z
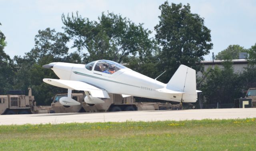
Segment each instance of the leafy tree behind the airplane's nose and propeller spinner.
M58 78L52 70L44 69L44 64L51 62L65 62L69 58L70 62L81 62L80 58L74 54L68 54L69 48L66 43L68 36L64 33L56 32L50 28L39 30L35 36L35 46L25 54L24 57L15 56L16 89L32 88L33 95L39 105L50 103L50 98L56 93L66 93L66 90L48 85L42 81L43 78Z

